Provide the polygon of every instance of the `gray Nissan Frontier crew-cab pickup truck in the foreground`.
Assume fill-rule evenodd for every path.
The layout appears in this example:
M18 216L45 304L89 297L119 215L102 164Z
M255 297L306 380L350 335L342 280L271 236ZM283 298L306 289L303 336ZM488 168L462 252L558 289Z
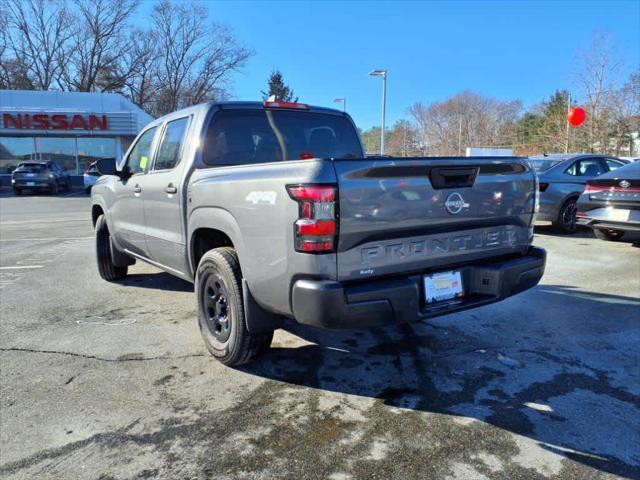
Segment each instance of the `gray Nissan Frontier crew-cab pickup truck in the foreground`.
M267 349L286 317L424 320L533 287L545 268L526 160L367 158L337 110L198 105L98 169L100 275L122 280L142 260L194 282L202 337L227 365Z

